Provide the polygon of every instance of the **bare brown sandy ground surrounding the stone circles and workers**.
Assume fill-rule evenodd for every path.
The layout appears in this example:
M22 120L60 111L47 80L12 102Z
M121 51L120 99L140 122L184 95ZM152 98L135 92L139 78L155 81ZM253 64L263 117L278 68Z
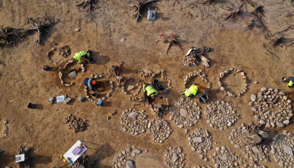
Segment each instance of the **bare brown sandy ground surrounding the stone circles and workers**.
M124 61L121 74L124 77L134 77L136 80L145 80L138 71L146 67L153 71L164 70L166 76L172 80L173 88L168 98L173 105L174 100L180 100L179 93L183 90L184 77L190 71L202 69L202 66L191 68L183 66L183 56L191 46L212 48L208 54L212 68L206 68L204 72L212 82L210 101L228 101L238 113L247 114L247 117L239 119L232 127L223 131L210 128L205 118L189 129L205 128L213 136L213 150L208 152L208 156L213 154L215 147L226 145L245 159L226 137L242 122L251 123L253 120L251 108L248 107L251 94L258 93L260 88L266 86L280 89L293 100L293 88L288 88L285 83L280 82L280 79L283 76L293 76L294 49L293 44L289 45L289 43L294 41L294 30L281 32L281 43L275 46L268 44L269 36L286 29L294 22L293 2L220 0L218 1L220 6L231 8L241 6L239 17L226 21L223 21L224 11L217 7L216 1L209 6L207 4L195 6L200 2L193 0L174 2L161 0L150 5L157 7L157 20L147 21L145 8L141 13L140 21L136 22L132 10L134 1L130 0L100 0L98 1L100 8L92 9L90 14L76 6L71 6L73 2L67 0L38 2L0 0L2 18L0 25L3 27L24 25L26 28L29 16L35 18L47 14L59 18L56 24L47 29L49 33L43 35L39 46L35 43L37 34L31 33L25 37L12 39L13 44L4 45L0 50L0 106L2 107L0 118L9 121L8 136L0 139L0 148L6 152L5 155L0 156L0 167L18 167L13 162L14 155L18 153L18 147L25 143L28 143L27 146L32 150L32 167L42 167L40 162L44 162L49 167L53 166L50 156L53 155L55 161L59 160L58 156L65 153L77 139L83 140L89 148L86 155L100 159L97 167L111 167L114 156L133 145L143 151L146 149L149 151L136 159L136 167L165 167L164 151L170 146L183 148L183 153L187 155L185 167L193 167L195 164L213 166L211 160L205 162L200 159L199 154L190 149L188 134L173 122L171 127L174 132L162 144L154 143L152 136L148 134L141 137L123 132L120 116L125 109L134 107L146 110L149 119L155 116L146 107L146 101L130 102L128 101L130 96L123 94L116 86L113 96L108 98L103 108L98 108L88 100L83 103L77 101L78 96L84 95L84 78L89 77L90 74L107 74L113 64L119 65ZM250 13L252 11L250 4L254 3L263 6L262 16ZM288 13L290 16L287 17ZM246 28L246 22L250 20L254 21L251 30ZM75 28L81 28L81 31L76 32ZM158 38L160 32L180 35L179 41L183 44L183 51L172 46L168 55L165 55L166 44L159 42L154 47L153 41ZM122 38L126 41L121 42ZM67 59L58 55L58 51L66 45L72 50L72 54ZM57 50L47 56L46 52L53 47ZM93 51L92 56L95 59L100 58L100 60L94 64L87 64L86 72L78 71L77 77L73 80L67 79L67 82L74 82L74 86L62 86L58 78L58 67L64 66L75 52L88 49ZM266 50L273 55L267 55ZM49 63L50 61L52 63ZM149 62L150 64L146 65ZM43 65L52 67L51 71L43 71ZM75 64L72 67L80 66ZM242 69L250 79L248 92L244 96L227 97L219 89L218 74L231 67ZM16 82L18 80L21 81ZM99 81L108 83L114 80L108 73ZM226 89L232 92L241 90L242 86L238 87L240 80L242 79L239 76L228 76L224 79L228 85ZM258 84L254 84L254 81L258 81ZM108 85L99 98L105 96L109 90ZM56 102L53 105L48 104L50 96L63 94L74 98L67 105ZM36 109L28 109L29 102L35 104ZM200 106L203 112L205 105ZM106 115L101 115L115 110L118 114L111 120L106 120ZM87 121L84 132L73 133L72 130L67 129L64 118L69 113ZM164 116L163 119L168 120L168 117L169 115ZM291 120L285 128L274 129L277 131L287 129L293 132L292 124ZM0 125L2 133L3 126ZM273 161L271 154L270 157ZM261 164L268 167L277 166L275 162ZM58 166L69 167L69 164L61 162Z

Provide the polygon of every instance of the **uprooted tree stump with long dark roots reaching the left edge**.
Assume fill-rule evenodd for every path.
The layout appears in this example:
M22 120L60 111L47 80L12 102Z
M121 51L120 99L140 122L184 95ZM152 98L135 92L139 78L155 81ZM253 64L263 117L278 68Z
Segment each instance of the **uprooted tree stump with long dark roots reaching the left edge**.
M51 25L53 22L57 21L58 19L53 19L53 18L49 18L49 17L40 17L40 18L36 18L36 19L32 19L31 17L28 18L29 24L31 25L31 28L17 28L17 27L1 27L0 30L0 35L2 38L4 38L7 41L7 37L9 37L10 35L14 35L14 36L25 36L28 32L32 32L32 31L38 31L38 39L36 40L36 42L38 44L40 44L41 41L41 35L43 31L48 32L47 30L45 30L44 28Z

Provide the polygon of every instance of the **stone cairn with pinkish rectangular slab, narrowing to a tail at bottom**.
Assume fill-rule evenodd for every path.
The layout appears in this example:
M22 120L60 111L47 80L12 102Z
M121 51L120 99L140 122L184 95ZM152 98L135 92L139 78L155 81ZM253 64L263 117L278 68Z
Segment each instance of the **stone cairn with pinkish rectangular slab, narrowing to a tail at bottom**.
M192 151L197 151L197 153L200 154L200 158L207 161L207 151L212 149L212 136L209 136L207 130L196 128L196 130L189 135L188 141Z

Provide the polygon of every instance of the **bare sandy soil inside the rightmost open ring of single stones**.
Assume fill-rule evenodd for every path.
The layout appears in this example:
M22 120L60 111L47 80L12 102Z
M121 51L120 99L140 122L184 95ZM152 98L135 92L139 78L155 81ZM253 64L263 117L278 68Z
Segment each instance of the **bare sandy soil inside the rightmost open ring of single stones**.
M221 78L220 82L226 91L237 94L243 90L245 79L242 78L240 73L230 72Z

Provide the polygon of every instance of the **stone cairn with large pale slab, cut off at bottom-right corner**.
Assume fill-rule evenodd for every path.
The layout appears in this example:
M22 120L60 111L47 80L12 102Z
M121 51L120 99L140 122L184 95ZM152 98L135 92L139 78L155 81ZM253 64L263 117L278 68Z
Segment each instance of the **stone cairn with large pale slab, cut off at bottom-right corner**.
M294 137L293 133L283 130L273 137L272 154L280 167L290 167L294 165L293 159Z

